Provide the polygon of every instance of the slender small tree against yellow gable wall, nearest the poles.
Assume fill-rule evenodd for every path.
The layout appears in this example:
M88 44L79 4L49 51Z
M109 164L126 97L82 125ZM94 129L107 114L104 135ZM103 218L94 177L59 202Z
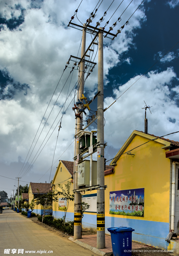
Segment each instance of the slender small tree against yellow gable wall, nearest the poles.
M67 184L65 184L65 188L66 188L66 191L65 191L65 189L63 188L63 185L59 184L59 188L62 191L58 191L58 193L57 193L57 194L59 194L59 196L63 196L62 200L66 200L66 207L64 208L65 215L63 217L64 221L66 218L66 212L68 210L69 201L74 201L74 197L75 197L74 194L70 195L70 186L71 186L71 182L68 181Z

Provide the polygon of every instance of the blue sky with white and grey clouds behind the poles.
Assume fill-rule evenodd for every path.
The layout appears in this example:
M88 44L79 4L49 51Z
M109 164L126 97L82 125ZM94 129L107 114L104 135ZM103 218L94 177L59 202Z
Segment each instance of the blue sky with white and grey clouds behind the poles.
M12 178L1 177L0 190L8 195L14 185L17 186L13 180L16 177L21 177L21 185L49 182L59 159L73 161L75 118L72 106L78 71L70 74L70 68L64 73L63 70L70 55L81 55L82 32L67 25L79 6L73 22L85 23L90 13L98 8L92 22L95 26L113 2L100 25L104 27L109 20L105 28L108 30L131 2L121 1L100 0L97 7L98 1L91 0L83 0L80 6L79 0L0 2L0 169L1 175ZM131 2L113 33L117 33L141 2ZM178 11L178 0L145 0L115 40L104 38L105 107L178 42ZM92 36L87 34L86 47L91 40ZM96 53L94 45L93 55L90 53L94 62L98 62ZM133 130L144 131L144 100L152 106L152 114L147 113L149 133L162 136L179 130L178 56L179 44L104 113L107 160L114 157ZM69 67L72 66L73 62ZM96 92L97 66L84 87L88 100ZM96 111L96 101L91 109ZM93 129L96 129L95 124L90 126L90 130ZM168 138L179 141L178 134ZM54 162L57 162L50 176L56 141Z

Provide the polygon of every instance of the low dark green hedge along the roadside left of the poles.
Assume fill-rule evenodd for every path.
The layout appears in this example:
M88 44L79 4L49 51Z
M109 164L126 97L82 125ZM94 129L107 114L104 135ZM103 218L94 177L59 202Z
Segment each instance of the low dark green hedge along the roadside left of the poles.
M42 222L42 216L38 216L38 220ZM74 235L74 221L65 221L60 219L53 219L53 216L46 215L44 216L43 223L51 226L55 229L58 229L64 233L69 234L70 236Z

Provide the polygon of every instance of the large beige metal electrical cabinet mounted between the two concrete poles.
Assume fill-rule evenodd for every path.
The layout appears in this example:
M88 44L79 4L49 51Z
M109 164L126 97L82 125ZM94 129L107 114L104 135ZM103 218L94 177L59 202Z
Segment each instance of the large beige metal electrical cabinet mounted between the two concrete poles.
M89 187L90 161L84 160L78 164L78 187ZM92 186L97 185L97 161L92 161Z

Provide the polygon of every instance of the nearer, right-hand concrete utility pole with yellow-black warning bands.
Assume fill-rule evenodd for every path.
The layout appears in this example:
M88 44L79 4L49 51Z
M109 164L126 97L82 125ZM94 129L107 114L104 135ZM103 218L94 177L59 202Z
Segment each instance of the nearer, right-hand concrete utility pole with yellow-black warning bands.
M103 28L100 28L103 29ZM98 95L97 100L97 151L101 149L101 154L97 156L97 248L105 248L105 199L104 199L104 94L103 94L103 32L99 33L98 41ZM100 221L100 224L99 224ZM103 224L101 224L101 222Z

